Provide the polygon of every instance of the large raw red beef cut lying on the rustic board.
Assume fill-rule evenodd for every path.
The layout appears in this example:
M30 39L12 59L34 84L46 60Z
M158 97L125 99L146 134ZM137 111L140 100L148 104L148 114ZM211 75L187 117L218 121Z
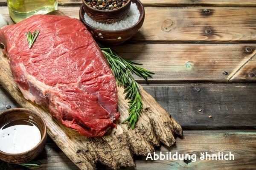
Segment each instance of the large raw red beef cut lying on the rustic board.
M26 31L40 30L32 48ZM77 19L34 15L0 29L15 82L26 99L49 108L84 136L115 127L116 81L101 50Z

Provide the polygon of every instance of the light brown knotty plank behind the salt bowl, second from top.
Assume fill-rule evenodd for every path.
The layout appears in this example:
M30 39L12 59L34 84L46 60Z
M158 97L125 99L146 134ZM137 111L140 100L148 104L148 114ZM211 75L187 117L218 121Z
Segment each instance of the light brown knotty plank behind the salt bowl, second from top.
M59 10L79 18L79 7ZM12 23L7 7L0 11ZM256 42L255 16L255 8L146 7L143 27L130 41Z

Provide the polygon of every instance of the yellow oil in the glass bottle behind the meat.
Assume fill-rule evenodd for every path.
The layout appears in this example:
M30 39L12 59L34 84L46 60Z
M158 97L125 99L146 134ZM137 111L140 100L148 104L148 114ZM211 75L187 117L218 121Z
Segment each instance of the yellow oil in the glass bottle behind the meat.
M18 23L35 14L46 14L57 10L57 0L7 0L9 14Z

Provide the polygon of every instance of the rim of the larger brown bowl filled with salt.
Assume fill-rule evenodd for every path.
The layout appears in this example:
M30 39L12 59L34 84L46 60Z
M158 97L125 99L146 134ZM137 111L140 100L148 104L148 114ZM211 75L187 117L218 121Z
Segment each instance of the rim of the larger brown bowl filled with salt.
M133 1L133 0L131 0L131 2L132 2L132 1ZM83 23L86 23L86 25L88 25L88 26L90 26L91 28L96 29L96 30L98 30L98 31L104 31L104 32L107 32L107 33L116 33L116 32L127 31L127 30L129 30L129 29L134 28L135 26L137 26L137 25L144 19L144 16L145 16L145 9L144 9L143 4L140 2L140 0L134 0L134 1L137 1L138 4L142 7L142 12L140 13L140 17L139 17L138 22L135 23L133 26L130 26L130 27L125 28L125 29L120 29L120 30L111 31L111 30L104 30L104 29L100 29L100 28L96 28L96 27L94 27L94 26L91 26L90 24L88 24L87 22L85 22L84 16L82 15L82 11L84 11L84 8L83 8L84 4L82 4L81 7L80 7L80 10L79 10L79 17L80 17L80 20L81 20ZM138 7L138 6L137 6L137 7ZM84 11L84 12L86 12L86 11Z

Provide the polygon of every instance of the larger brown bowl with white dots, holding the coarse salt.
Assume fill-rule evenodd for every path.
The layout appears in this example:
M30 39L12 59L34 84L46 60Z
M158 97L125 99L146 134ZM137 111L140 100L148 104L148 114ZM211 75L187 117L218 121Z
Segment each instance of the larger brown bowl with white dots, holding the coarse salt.
M90 26L84 20L85 11L83 6L81 6L80 8L79 18L90 31L90 33L93 35L93 38L95 40L106 45L119 45L133 37L140 30L144 22L145 11L142 3L139 0L131 0L131 2L136 3L138 10L140 11L140 18L139 21L136 24L134 24L134 26L131 26L129 28L117 31L107 31Z

